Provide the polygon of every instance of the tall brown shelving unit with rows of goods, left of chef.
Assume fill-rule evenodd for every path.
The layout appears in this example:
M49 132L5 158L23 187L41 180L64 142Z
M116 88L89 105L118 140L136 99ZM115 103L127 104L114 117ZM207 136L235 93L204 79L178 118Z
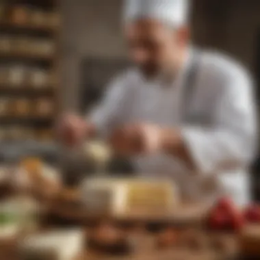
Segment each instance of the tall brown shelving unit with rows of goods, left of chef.
M59 34L58 0L0 0L0 143L13 151L55 146Z

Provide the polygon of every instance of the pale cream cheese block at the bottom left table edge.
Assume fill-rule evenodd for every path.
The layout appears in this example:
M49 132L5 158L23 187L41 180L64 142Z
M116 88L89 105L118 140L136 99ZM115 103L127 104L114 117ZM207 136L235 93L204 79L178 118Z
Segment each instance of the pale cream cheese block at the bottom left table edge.
M83 238L80 230L31 235L20 244L21 259L72 260L82 252Z

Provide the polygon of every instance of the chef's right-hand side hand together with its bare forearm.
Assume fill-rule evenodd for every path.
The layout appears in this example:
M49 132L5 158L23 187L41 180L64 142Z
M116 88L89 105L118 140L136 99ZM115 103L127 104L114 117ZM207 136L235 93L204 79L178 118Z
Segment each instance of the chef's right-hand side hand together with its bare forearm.
M151 155L162 152L179 158L188 167L194 168L194 161L179 129L146 124L128 125L114 131L109 141L119 155Z

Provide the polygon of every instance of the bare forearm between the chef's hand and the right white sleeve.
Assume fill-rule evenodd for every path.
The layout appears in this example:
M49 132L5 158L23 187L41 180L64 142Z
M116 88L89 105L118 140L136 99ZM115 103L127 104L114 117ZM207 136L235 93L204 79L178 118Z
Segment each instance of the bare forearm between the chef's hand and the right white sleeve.
M183 140L180 129L162 129L161 140L161 148L165 153L178 157L184 161L189 168L192 170L195 169L194 161Z

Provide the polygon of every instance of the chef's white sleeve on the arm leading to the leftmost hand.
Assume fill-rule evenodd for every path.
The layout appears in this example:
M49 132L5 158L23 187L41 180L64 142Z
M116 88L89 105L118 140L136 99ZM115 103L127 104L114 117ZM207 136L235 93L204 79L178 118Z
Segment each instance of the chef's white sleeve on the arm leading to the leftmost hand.
M88 120L94 123L103 137L107 137L125 116L127 97L129 97L127 85L125 77L114 79L107 87L104 99L88 115Z

